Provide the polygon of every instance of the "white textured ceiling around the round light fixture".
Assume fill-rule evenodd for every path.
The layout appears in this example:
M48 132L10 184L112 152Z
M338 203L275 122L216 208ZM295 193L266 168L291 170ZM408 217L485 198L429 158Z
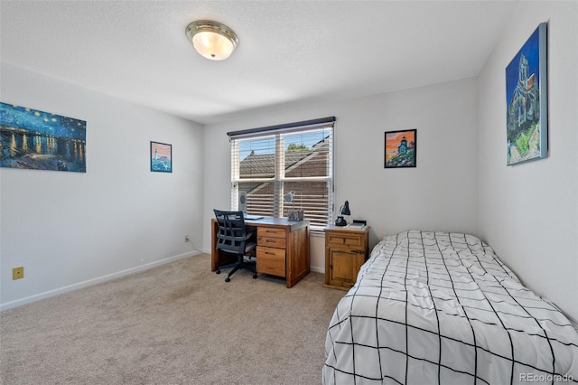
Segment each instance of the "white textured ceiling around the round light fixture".
M476 76L519 3L2 0L0 59L209 124ZM227 61L200 19L238 34Z

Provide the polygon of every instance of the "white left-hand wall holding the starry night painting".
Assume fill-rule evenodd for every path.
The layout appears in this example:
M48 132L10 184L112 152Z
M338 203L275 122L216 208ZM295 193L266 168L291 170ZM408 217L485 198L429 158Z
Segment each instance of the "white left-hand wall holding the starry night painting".
M86 174L0 168L1 309L198 253L200 125L5 62L1 76L1 101L87 121ZM151 140L172 144L172 174L150 172Z

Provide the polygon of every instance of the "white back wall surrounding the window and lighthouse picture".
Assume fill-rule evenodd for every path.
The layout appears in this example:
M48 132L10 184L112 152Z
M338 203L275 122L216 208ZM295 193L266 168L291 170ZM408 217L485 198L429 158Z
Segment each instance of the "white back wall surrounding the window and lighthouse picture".
M230 207L228 131L337 117L335 202L371 226L370 247L409 229L478 232L476 80L456 80L204 128L204 249L213 208ZM417 167L384 169L384 133L417 129ZM333 217L335 218L335 216ZM312 270L324 271L322 238L312 238Z

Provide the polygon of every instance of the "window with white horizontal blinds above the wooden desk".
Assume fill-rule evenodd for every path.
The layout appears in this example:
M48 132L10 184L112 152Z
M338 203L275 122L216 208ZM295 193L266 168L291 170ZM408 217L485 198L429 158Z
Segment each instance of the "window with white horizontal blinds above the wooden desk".
M231 207L247 196L247 213L287 217L303 210L312 230L331 221L333 122L327 117L228 133L231 141ZM286 192L293 202L284 202Z

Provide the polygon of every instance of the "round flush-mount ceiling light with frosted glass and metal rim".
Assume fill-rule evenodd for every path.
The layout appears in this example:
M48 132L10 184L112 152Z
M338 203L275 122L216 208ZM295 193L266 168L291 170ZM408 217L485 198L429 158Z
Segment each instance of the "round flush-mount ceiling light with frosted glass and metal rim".
M237 34L218 22L192 22L187 26L186 33L195 50L211 61L227 59L238 46Z

